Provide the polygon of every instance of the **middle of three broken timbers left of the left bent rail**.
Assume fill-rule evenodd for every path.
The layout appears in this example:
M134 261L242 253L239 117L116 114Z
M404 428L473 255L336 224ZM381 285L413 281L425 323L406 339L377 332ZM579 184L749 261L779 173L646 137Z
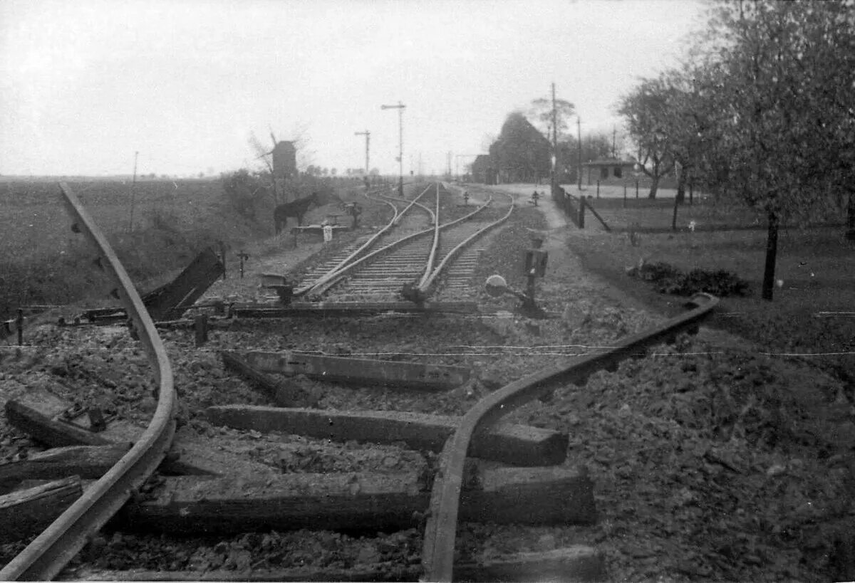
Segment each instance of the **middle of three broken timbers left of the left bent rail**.
M97 479L107 473L129 445L71 445L32 454L19 462L0 465L0 492L23 480L56 480L71 475Z

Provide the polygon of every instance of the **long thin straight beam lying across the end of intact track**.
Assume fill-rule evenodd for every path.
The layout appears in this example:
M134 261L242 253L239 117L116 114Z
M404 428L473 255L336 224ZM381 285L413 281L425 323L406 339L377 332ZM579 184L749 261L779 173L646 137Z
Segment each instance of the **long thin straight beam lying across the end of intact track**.
M398 314L478 314L475 302L293 302L288 307L235 303L231 313L239 318L286 318L292 316L350 316Z

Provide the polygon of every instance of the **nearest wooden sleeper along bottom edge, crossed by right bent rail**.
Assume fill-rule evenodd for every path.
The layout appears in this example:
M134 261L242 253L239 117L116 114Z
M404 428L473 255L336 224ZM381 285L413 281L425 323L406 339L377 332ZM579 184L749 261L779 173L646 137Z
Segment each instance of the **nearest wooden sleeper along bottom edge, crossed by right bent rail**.
M291 567L249 571L95 571L80 570L74 577L90 581L415 581L422 577L417 565L396 562L349 568ZM551 551L484 555L454 565L455 580L462 581L600 581L605 580L603 555L587 545L570 545ZM60 577L62 580L62 576Z

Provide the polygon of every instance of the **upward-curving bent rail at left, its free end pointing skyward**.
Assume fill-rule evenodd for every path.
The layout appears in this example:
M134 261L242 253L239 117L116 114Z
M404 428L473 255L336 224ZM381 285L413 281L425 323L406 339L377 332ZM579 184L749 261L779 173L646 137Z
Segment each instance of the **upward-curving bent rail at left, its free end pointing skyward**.
M118 284L116 291L133 322L133 330L139 335L149 361L156 368L160 387L157 409L149 427L133 448L0 570L0 580L50 580L55 577L83 548L91 533L103 527L131 497L131 493L155 471L172 445L175 433L176 397L172 368L154 322L125 268L80 199L64 182L60 183L60 188L68 212L74 218L72 229L82 231L96 245L99 252L97 265Z

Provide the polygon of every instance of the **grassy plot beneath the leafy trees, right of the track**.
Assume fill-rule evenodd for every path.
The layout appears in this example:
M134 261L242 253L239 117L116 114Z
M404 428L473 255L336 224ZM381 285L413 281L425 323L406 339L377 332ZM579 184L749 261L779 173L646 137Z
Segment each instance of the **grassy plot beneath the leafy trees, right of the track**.
M765 230L642 233L635 244L628 233L600 231L580 234L571 247L586 268L666 310L683 298L658 294L646 281L629 277L626 268L643 258L684 272L724 269L738 275L749 282L750 294L722 298L715 326L752 339L769 353L805 355L855 391L855 244L846 241L842 227L781 232L771 302L760 298Z

